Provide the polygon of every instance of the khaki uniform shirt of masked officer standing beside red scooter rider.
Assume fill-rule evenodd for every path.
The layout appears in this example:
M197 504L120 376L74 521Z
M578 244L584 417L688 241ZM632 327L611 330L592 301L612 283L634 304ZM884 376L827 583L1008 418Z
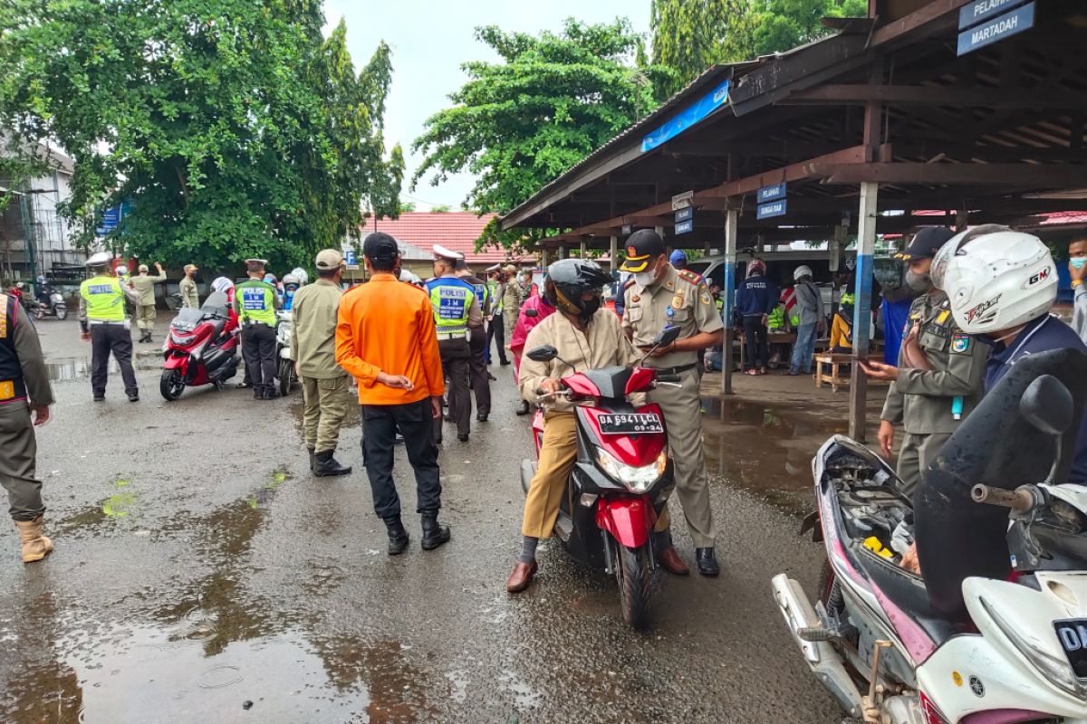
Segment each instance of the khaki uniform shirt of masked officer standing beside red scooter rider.
M624 301L623 329L633 334L635 347L651 346L661 330L670 325L679 327L680 340L724 329L705 282L692 272L677 271L671 264L657 283L627 287ZM694 365L697 360L697 352L683 351L650 357L646 365L664 369Z

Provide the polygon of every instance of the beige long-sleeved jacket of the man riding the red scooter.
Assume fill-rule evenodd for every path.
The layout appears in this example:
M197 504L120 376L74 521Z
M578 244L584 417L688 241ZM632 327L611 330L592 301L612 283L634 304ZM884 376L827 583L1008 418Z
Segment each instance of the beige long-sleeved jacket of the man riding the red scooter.
M536 401L536 389L540 386L544 378L560 380L573 372L601 367L630 367L641 359L623 333L619 317L611 309L597 310L584 332L561 312L551 315L528 332L525 352L545 344L558 350L559 356L565 361L552 359L549 363L538 363L529 359L527 354L523 356L517 386L521 388L521 396L524 399ZM547 401L545 407L562 411L570 410L573 404L562 397L555 397L553 401Z

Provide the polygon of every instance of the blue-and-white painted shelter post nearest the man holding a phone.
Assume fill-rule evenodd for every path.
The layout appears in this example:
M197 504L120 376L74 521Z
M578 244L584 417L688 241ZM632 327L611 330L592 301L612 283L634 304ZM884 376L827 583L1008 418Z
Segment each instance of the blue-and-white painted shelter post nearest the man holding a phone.
M849 380L849 436L863 443L866 430L867 377L857 364L869 357L872 326L872 272L876 247L876 196L879 185L861 183L861 208L857 221L857 300L853 302L853 366Z

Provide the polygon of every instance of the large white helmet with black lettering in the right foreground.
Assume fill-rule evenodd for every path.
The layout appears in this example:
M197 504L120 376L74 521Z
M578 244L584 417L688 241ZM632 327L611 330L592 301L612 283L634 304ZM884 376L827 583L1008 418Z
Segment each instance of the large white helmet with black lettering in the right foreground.
M1057 267L1038 237L999 224L969 229L933 257L933 284L947 292L967 334L1025 325L1057 301Z

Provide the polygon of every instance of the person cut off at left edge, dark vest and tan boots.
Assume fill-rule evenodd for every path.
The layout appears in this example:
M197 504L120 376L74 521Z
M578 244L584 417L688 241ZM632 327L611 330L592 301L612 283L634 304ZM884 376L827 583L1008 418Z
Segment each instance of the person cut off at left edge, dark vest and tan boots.
M35 477L34 437L34 427L49 420L52 404L38 333L17 297L0 294L0 484L8 491L24 563L41 560L53 549L52 541L41 534L46 506L41 481Z

